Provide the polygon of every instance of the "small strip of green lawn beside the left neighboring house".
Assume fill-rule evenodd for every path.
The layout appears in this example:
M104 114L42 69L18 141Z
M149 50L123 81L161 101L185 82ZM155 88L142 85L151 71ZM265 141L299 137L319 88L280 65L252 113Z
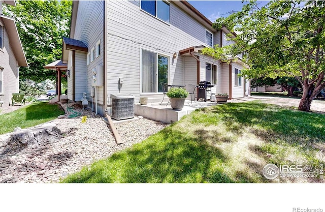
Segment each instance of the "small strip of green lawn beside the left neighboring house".
M35 102L13 112L0 115L0 134L13 132L16 127L23 129L36 126L53 120L62 114L64 114L64 110L57 104Z

